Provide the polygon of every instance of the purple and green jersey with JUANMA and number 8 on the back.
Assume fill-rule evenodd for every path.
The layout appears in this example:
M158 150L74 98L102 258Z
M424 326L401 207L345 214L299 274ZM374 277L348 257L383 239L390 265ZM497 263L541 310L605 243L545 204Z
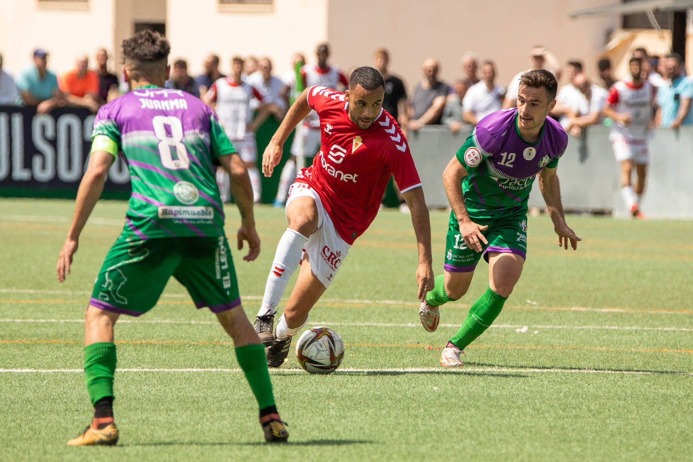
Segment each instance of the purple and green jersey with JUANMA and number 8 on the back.
M102 106L91 151L122 152L132 193L123 238L224 236L214 159L236 152L213 110L153 85Z

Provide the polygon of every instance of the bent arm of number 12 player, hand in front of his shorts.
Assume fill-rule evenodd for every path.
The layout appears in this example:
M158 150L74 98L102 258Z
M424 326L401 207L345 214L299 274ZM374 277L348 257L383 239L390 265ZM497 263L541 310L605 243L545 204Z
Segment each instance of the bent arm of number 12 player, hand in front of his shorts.
M462 163L459 163L455 156L450 160L443 172L443 186L459 223L459 233L462 235L464 243L470 249L480 252L483 249L481 243L489 243L482 233L488 226L480 226L473 222L469 217L469 213L467 213L467 208L464 206L464 194L462 193L462 178L466 177L466 175L466 168L464 168Z

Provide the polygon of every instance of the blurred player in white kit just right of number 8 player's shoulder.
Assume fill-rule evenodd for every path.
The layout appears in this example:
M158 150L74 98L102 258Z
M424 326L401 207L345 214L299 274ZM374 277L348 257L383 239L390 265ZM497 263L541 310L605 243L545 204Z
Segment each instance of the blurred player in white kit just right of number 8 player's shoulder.
M207 91L207 103L216 111L219 121L231 143L240 154L240 159L248 170L253 187L253 200L260 202L260 172L257 168L258 150L255 144L256 121L253 119L252 100L257 100L263 109L263 96L257 89L241 80L243 59L234 57L231 60L231 75L214 82ZM229 175L222 169L217 170L216 181L219 185L221 199L229 202Z

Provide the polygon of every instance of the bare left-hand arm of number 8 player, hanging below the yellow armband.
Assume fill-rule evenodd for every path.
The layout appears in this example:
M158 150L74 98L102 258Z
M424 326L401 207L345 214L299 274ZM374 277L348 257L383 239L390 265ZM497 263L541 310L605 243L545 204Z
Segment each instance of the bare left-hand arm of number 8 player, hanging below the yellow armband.
M80 188L77 190L75 212L72 215L70 231L67 233L67 238L65 238L65 242L62 245L60 255L58 256L58 265L55 267L55 271L58 272L58 281L61 283L65 280L65 276L70 274L72 256L77 251L80 233L82 233L91 211L94 210L101 191L103 191L103 184L106 182L108 169L112 166L115 159L113 154L106 151L94 151L89 156L89 166L85 176L82 177Z

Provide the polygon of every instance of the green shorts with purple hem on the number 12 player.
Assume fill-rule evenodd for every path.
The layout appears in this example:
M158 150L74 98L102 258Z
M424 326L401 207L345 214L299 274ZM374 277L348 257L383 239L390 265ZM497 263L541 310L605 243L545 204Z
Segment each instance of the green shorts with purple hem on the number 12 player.
M450 213L448 236L446 237L445 264L446 271L456 273L473 272L482 254L489 261L488 252L509 252L527 258L527 215L509 215L502 218L472 218L472 221L489 226L482 231L488 245L482 242L483 251L469 249L459 233L459 222L455 213Z

